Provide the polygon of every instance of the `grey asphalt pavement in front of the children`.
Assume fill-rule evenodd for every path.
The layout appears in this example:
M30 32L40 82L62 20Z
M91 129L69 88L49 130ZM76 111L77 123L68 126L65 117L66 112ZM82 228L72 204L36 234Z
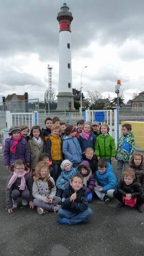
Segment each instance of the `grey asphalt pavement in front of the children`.
M93 215L86 224L60 225L58 215L38 215L21 206L7 213L5 183L9 175L0 156L0 255L1 256L141 256L144 253L144 213L116 208L94 198Z

